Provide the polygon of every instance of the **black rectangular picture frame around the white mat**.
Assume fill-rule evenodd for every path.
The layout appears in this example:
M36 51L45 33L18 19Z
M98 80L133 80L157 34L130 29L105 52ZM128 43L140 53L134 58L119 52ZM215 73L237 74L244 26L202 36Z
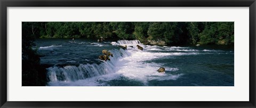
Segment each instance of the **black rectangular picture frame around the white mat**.
M255 0L0 0L0 106L1 107L255 107ZM250 101L249 102L13 102L7 100L7 7L249 7Z

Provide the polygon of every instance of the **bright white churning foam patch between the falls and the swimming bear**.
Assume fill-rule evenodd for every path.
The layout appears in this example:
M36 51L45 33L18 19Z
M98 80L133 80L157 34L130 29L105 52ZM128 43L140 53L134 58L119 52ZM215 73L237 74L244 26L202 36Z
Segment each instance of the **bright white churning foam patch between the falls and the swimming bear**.
M132 54L131 56L124 57L119 60L117 65L118 70L116 73L122 74L122 76L132 79L139 80L147 85L150 80L159 80L165 78L165 80L176 80L179 75L158 73L157 70L162 65L156 63L144 63L143 60L149 60L150 57L138 57L138 54ZM167 68L166 68L167 69ZM176 68L168 68L167 70L175 71Z

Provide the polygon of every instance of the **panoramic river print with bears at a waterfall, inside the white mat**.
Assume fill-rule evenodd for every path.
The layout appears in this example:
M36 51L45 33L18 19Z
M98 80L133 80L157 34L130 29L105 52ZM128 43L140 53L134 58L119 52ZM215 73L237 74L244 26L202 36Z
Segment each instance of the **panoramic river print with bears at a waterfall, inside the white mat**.
M234 22L22 22L22 86L234 86Z

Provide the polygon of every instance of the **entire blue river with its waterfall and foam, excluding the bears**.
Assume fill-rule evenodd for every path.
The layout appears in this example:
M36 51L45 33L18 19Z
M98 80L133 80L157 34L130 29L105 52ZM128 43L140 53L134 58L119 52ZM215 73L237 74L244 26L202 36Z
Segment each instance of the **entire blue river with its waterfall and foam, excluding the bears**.
M86 39L38 39L47 86L234 86L234 47L151 46L139 40L97 43ZM118 45L127 45L127 50ZM143 51L136 47L140 45ZM102 50L110 61L98 59ZM165 68L165 73L157 69Z

